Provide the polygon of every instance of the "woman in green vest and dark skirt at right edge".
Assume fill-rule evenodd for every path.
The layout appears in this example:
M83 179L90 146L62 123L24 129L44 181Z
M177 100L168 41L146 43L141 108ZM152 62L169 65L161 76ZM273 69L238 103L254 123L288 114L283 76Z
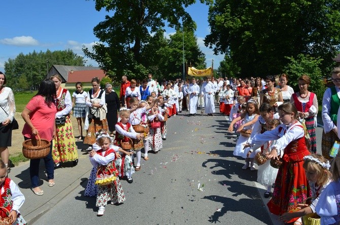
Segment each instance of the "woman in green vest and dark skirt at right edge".
M326 89L322 98L322 156L331 159L329 156L330 149L335 141L340 141L337 137L337 110L340 106L340 67L336 67L332 71L334 85Z

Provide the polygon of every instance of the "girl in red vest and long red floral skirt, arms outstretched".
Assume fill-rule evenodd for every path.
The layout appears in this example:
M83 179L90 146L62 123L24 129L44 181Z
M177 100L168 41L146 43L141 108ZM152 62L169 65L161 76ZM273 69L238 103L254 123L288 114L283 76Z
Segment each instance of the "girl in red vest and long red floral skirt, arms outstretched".
M303 170L303 157L310 154L306 147L304 130L298 121L297 110L294 105L284 103L278 107L280 120L283 124L274 130L256 134L248 146L277 140L267 158L278 159L277 150L283 150L282 165L275 180L273 198L267 206L276 215L296 211L295 205L300 204L310 196L310 188ZM294 222L291 219L287 222Z

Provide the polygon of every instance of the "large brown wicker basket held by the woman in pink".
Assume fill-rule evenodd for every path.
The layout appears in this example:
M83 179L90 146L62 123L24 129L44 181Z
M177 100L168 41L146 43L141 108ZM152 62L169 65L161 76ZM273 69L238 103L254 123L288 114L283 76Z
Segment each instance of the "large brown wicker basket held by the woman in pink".
M27 159L41 159L45 158L50 153L51 143L46 139L40 139L37 134L38 140L28 139L22 143L22 154Z

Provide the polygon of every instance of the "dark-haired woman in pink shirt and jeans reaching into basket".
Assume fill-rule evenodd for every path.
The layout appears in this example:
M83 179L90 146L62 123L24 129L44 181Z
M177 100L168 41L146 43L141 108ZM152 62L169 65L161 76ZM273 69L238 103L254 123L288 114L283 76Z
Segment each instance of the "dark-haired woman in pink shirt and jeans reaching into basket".
M21 116L26 122L22 134L24 139L40 138L51 141L56 136L55 114L55 85L52 80L44 80L39 87L38 94L34 96L22 111ZM52 145L50 153L44 158L48 178L48 186L54 186L54 163L52 159ZM36 195L43 195L44 191L39 187L39 163L40 159L31 159L29 173L31 179L31 190Z

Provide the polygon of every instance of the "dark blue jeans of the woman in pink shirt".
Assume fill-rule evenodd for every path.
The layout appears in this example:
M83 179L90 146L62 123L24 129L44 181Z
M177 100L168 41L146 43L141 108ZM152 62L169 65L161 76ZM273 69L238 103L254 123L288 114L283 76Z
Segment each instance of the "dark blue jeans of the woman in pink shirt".
M28 138L24 137L25 140ZM50 152L43 158L48 179L54 179L54 162L52 159L52 141L50 145ZM40 159L31 159L29 161L29 175L32 188L39 187L39 164Z

